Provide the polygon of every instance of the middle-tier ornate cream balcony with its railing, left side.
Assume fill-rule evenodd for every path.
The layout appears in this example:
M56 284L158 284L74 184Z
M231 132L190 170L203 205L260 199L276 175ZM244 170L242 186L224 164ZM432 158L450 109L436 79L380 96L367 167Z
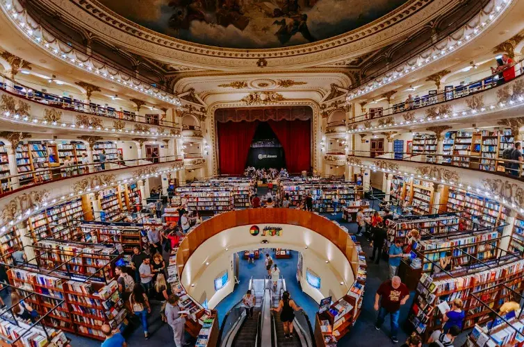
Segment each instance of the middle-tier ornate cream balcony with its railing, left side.
M79 133L120 133L168 138L181 136L180 130L174 128L177 124L151 124L144 117L131 113L93 107L71 99L66 101L67 98L48 99L47 94L30 92L31 88L23 89L24 92L13 90L6 85L0 88L0 120L35 128L69 129Z

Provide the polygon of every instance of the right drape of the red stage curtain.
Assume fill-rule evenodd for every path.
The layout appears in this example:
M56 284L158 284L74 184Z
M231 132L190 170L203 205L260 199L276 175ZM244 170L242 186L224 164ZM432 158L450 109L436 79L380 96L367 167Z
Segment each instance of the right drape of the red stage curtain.
M311 121L268 121L286 155L290 174L311 169Z

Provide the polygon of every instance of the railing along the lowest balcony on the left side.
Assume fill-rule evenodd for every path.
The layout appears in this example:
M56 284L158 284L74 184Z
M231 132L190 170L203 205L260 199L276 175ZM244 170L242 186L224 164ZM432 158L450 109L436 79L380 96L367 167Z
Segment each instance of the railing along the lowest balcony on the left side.
M20 189L26 189L33 185L51 183L58 180L73 178L93 173L110 172L130 167L141 167L158 163L181 162L182 158L177 155L165 157L146 157L131 160L108 160L107 162L90 164L60 165L46 169L25 171L21 174L0 177L0 197Z

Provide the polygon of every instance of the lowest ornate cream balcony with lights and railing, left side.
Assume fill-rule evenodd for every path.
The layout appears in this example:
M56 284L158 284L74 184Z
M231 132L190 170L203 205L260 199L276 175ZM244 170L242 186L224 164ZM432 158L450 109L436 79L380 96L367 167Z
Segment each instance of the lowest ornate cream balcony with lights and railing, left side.
M3 227L8 224L24 221L48 205L78 198L87 192L183 169L183 160L174 156L155 158L153 162L136 159L105 164L104 170L99 163L81 164L0 178L8 187L0 192L0 230L5 230ZM26 176L31 178L21 179Z

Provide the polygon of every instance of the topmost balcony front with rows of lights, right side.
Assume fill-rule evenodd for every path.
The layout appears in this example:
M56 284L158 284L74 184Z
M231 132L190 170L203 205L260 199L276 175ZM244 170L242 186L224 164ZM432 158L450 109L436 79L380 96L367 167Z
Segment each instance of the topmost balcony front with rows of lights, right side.
M508 0L478 1L477 8L470 11L471 16L466 15L450 23L444 31L432 37L427 44L408 53L398 62L388 63L386 67L375 71L358 85L355 84L347 94L346 100L351 101L385 85L399 83L401 78L427 69L427 65L432 62L448 58L493 26L493 23L515 3L516 1L513 1L511 4L511 1ZM391 68L392 65L393 68Z

